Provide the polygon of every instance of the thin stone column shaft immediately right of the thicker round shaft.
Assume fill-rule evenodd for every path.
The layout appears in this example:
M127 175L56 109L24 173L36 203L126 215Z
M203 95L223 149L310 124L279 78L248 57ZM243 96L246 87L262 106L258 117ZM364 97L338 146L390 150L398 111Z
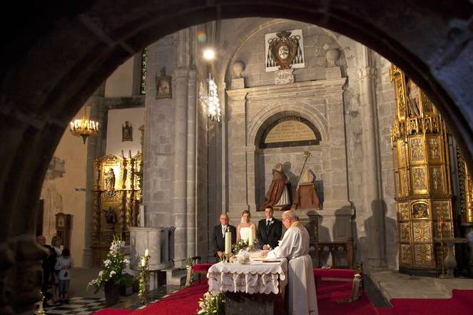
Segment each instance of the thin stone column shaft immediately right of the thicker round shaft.
M193 257L196 254L196 230L195 230L195 141L196 141L196 95L197 86L195 83L196 72L191 70L188 73L188 136L187 136L187 256Z

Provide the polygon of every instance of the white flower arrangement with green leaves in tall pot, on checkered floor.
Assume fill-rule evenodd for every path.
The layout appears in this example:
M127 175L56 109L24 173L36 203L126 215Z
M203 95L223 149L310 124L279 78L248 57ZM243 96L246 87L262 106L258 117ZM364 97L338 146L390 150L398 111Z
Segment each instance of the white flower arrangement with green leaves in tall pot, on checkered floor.
M120 284L129 283L129 274L123 272L130 261L125 258L121 249L121 239L114 235L107 257L103 260L102 269L98 277L91 280L88 286L93 286L95 293L101 289L105 290L105 304L112 306L118 303L120 298Z

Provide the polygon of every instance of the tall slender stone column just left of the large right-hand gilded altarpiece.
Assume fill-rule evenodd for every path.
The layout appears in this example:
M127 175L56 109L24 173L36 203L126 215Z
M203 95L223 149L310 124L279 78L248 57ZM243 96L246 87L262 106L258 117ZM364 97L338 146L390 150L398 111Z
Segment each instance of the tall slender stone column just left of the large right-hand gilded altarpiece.
M384 224L380 193L380 157L377 145L377 110L375 98L375 68L370 61L370 50L362 47L360 62L360 103L363 148L363 200L367 234L368 264L381 267L384 259Z

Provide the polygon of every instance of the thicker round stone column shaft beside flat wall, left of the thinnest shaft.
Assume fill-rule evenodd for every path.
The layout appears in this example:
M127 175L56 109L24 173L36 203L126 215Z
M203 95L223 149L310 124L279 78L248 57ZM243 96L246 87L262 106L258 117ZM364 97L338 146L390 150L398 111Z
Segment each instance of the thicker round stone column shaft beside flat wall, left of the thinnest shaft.
M173 215L174 264L183 267L187 259L187 144L188 144L188 69L177 68L174 81L174 130L173 130Z

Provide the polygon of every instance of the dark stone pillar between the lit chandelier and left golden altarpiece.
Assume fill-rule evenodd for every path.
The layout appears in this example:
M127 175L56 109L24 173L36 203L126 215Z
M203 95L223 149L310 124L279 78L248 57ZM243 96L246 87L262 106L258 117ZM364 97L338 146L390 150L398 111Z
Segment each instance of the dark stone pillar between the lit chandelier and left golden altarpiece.
M103 95L105 94L105 83L97 89L88 99L90 106L90 119L98 122L98 135L87 138L87 162L86 162L86 209L84 213L84 239L83 239L83 267L92 267L92 239L91 231L93 221L93 160L105 155L105 143L107 138L107 116L108 108L103 108Z

